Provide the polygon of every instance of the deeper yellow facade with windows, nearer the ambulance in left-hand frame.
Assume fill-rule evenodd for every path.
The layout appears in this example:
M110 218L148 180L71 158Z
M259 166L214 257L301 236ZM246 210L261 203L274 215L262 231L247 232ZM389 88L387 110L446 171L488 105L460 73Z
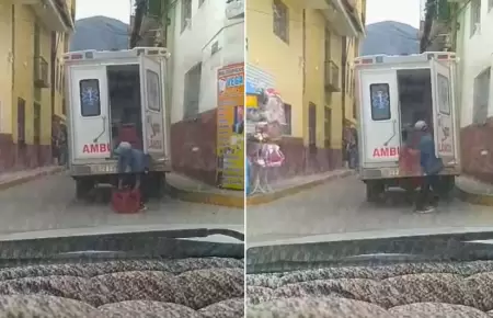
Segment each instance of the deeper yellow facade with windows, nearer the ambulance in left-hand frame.
M25 138L26 144L34 140L34 102L41 104L41 144L51 143L51 98L49 89L41 89L41 99L35 99L34 88L34 25L36 15L28 5L15 5L15 47L14 47L14 86L13 86L13 112L12 122L16 127L18 98L25 101ZM39 25L41 56L49 63L50 35ZM13 139L18 138L18 130L12 132Z

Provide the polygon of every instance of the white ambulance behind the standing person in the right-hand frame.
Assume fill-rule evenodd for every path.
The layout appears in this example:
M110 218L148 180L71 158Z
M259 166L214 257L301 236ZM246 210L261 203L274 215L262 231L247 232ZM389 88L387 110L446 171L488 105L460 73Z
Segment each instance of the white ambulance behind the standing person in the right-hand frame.
M421 174L403 175L399 164L403 130L417 121L432 128L436 156L445 166L442 188L454 189L460 173L456 54L363 56L356 58L355 69L359 175L367 200L376 201L388 188L417 186Z

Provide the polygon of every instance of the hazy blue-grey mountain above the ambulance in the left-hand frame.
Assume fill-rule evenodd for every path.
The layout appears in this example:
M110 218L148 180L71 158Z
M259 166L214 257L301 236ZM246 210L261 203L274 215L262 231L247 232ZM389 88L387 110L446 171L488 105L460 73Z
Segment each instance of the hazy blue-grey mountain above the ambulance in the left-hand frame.
M76 22L70 50L112 50L128 47L128 25L106 16L91 16Z

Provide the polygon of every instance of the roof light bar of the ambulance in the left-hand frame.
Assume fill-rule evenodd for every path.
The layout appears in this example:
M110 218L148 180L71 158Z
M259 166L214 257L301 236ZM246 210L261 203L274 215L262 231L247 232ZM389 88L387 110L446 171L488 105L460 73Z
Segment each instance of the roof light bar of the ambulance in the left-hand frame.
M89 60L98 58L125 58L125 57L137 57L141 55L164 57L164 58L170 57L170 53L164 47L135 47L131 49L123 49L123 50L85 49L85 50L69 52L64 55L64 60L76 61L76 60Z

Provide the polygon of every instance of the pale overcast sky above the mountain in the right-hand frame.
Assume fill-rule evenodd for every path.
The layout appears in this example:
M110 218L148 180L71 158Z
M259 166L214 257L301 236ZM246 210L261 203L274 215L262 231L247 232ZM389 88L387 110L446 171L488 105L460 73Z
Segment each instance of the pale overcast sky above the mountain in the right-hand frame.
M420 2L422 0L367 0L366 24L390 20L420 29Z

